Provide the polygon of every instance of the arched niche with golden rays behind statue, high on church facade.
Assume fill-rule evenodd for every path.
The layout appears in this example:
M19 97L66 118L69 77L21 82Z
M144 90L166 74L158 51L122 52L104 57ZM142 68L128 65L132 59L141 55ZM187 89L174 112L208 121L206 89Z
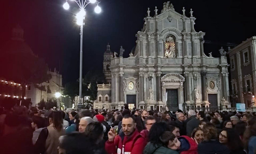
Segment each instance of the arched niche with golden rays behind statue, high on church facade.
M175 40L173 37L169 36L165 42L165 57L167 58L175 58L176 51L175 51Z

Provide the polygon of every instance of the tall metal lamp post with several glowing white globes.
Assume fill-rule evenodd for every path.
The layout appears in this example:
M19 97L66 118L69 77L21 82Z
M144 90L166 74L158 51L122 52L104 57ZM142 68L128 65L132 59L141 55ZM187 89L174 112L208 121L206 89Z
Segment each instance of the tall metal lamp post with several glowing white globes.
M77 24L80 26L80 69L79 69L79 103L77 108L80 110L83 106L82 104L82 69L83 69L83 26L84 26L84 17L86 15L85 7L90 3L96 3L97 6L94 8L96 13L101 12L101 8L99 7L99 2L96 0L69 0L74 1L79 6L79 12L76 14ZM64 9L69 9L68 0L63 4Z

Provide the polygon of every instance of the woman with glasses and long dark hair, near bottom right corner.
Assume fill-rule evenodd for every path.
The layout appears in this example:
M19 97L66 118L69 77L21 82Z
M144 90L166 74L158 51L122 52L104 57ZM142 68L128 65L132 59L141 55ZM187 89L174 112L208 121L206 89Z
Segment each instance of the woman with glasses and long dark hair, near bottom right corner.
M230 154L246 154L239 135L233 129L222 130L219 134L219 141L228 147Z

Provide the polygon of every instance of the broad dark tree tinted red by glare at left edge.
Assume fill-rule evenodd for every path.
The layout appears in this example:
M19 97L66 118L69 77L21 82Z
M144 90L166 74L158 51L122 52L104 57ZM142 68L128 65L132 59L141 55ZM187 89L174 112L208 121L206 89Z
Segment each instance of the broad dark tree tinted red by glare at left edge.
M11 52L0 57L0 65L5 66L2 67L0 76L20 83L23 98L28 83L39 84L51 79L51 75L47 74L48 66L44 60L31 53Z

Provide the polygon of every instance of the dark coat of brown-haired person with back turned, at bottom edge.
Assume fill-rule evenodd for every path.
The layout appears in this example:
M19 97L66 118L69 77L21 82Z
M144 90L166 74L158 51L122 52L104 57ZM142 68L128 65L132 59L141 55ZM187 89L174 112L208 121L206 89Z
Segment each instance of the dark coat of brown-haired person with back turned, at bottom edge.
M229 149L217 140L203 141L198 144L198 154L229 154Z

